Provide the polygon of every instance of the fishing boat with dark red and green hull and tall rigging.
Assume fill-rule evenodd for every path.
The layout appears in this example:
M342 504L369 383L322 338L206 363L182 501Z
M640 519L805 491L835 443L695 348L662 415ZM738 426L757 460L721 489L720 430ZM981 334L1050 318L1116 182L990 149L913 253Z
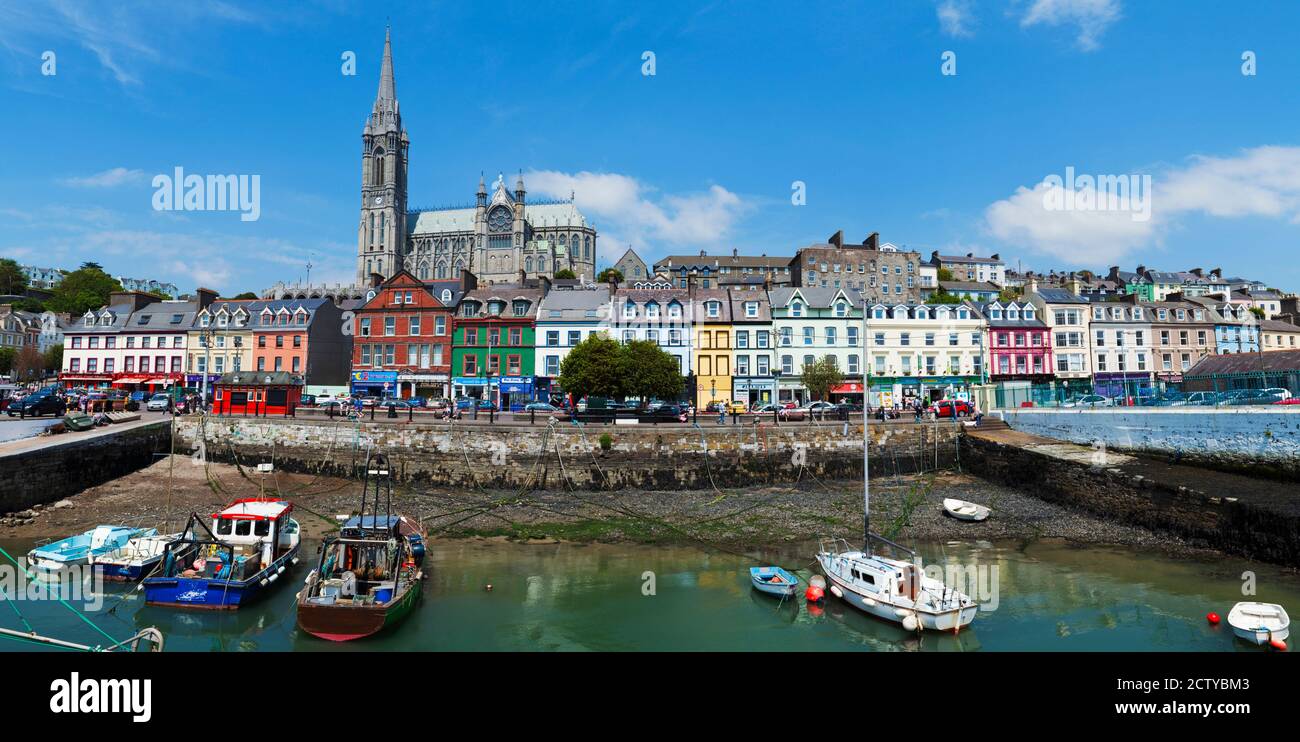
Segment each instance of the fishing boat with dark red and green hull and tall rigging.
M321 639L347 642L393 628L420 600L424 529L393 511L384 454L365 464L361 507L321 544L320 561L298 594L298 625Z

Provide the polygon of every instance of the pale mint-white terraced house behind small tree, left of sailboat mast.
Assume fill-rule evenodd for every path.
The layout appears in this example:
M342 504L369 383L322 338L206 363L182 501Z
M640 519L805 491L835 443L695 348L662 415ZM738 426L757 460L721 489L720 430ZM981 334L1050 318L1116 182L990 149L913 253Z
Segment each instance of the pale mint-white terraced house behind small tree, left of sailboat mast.
M790 287L767 294L776 337L777 402L810 402L800 376L823 356L844 381L832 396L862 400L862 296L848 288Z

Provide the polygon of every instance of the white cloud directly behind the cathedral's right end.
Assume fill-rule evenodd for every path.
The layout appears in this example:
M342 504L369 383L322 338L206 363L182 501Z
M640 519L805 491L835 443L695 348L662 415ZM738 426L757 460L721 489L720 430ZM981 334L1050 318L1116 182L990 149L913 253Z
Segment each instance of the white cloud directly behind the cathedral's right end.
M597 222L606 257L621 255L628 244L638 251L660 244L715 246L725 242L750 209L744 199L718 185L701 192L659 194L630 175L585 170L534 170L524 174L524 182L529 191L549 198L573 194L582 213Z

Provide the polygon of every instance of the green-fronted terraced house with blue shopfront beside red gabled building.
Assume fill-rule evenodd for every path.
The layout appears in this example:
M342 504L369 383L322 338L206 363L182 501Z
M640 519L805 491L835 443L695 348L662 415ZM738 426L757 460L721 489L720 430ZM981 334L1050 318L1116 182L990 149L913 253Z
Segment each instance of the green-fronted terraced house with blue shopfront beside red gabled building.
M465 292L456 308L451 392L523 409L536 399L537 308L549 282L497 283Z

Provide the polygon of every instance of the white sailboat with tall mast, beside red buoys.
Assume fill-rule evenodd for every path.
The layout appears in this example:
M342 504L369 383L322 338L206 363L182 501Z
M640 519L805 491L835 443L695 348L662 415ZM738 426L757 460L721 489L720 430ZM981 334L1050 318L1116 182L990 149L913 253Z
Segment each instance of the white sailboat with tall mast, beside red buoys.
M867 338L867 307L862 308L862 337ZM942 581L926 577L920 559L910 548L871 533L870 415L862 416L862 548L842 538L823 541L816 561L831 581L831 594L872 616L920 629L957 633L975 620L979 606ZM904 552L911 561L872 554L872 539Z

